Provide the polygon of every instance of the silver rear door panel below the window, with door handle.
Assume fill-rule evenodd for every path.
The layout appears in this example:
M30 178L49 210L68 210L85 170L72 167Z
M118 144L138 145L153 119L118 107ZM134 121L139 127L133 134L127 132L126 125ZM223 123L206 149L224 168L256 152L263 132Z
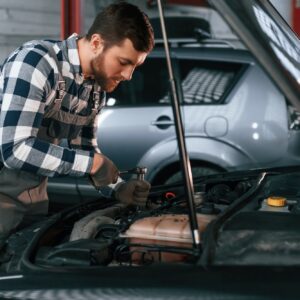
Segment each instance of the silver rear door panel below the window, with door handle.
M161 117L173 119L170 107L105 108L99 118L98 144L120 170L131 169L153 145L175 136L174 126L160 129ZM120 121L122 122L120 124Z

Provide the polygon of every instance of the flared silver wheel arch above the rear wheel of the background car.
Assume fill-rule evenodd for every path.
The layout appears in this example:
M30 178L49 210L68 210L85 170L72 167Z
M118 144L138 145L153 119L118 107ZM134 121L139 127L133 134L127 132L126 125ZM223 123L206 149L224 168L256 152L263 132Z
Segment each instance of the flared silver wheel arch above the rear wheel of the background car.
M190 160L207 162L225 170L255 164L245 151L222 140L209 137L186 137L186 147ZM178 161L177 141L169 139L151 147L138 165L148 168L146 179L152 181L161 170Z

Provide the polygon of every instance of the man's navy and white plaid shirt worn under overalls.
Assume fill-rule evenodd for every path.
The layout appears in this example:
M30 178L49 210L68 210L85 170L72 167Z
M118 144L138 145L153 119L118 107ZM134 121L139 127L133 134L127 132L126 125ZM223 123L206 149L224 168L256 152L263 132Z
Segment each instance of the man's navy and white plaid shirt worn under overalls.
M73 107L87 115L92 105L94 81L81 72L77 35L64 41L51 41L71 97L61 109ZM85 126L79 137L64 148L37 138L43 115L56 95L58 69L55 60L38 41L15 50L4 62L0 76L0 160L8 168L53 177L84 176L90 172L96 142L97 117ZM103 94L105 96L105 94Z

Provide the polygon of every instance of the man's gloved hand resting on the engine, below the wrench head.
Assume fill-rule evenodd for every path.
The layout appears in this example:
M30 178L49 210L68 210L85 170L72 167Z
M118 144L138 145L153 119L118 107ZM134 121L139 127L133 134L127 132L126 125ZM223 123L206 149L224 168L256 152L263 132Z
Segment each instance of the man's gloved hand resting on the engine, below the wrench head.
M127 205L145 206L150 187L150 183L145 180L131 179L121 182L115 189L115 198Z

